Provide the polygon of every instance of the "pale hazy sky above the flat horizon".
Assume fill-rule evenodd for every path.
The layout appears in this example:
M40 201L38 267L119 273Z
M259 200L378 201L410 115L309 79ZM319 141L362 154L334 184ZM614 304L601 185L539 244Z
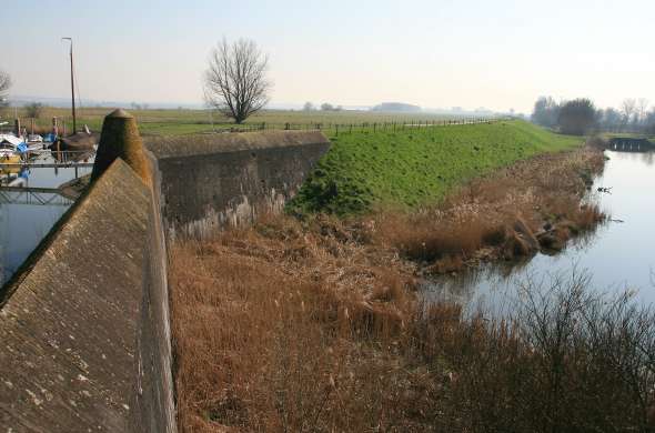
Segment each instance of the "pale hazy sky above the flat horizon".
M655 102L653 0L3 1L13 94L198 103L223 36L270 57L273 103L530 111L541 94Z

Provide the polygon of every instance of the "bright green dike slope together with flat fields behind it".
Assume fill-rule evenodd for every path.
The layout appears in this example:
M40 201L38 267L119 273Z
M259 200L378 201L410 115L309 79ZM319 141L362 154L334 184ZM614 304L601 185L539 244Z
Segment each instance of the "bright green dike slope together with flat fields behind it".
M84 108L78 124L100 131L102 119L112 110ZM333 145L289 205L298 214L346 215L379 205L415 208L435 203L473 177L536 153L570 149L582 141L520 120L444 128L444 123L466 118L430 113L264 110L235 125L224 118L212 124L208 110L129 111L137 117L143 135L284 129L286 123L291 129L321 128ZM26 119L24 109L18 115ZM43 108L37 128L48 130L53 117L63 119L67 130L71 130L70 110L50 107ZM429 125L419 128L413 123ZM23 124L29 128L30 123L23 120Z

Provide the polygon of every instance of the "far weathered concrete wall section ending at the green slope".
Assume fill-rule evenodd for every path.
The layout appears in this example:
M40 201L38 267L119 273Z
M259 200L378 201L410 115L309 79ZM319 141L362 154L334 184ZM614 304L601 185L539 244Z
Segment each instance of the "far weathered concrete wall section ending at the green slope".
M174 233L203 236L279 212L328 151L321 132L275 131L154 138L163 215Z

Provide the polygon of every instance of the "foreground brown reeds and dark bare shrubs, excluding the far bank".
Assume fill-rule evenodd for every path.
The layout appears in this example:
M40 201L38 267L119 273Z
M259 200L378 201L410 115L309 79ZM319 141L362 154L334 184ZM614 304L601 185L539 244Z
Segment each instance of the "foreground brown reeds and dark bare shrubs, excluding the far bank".
M347 241L324 263L316 238L292 236L308 249L289 254L281 226L263 232L174 249L181 432L655 425L655 315L629 296L556 280L526 285L514 316L466 318L457 305L417 304L406 270L351 261L359 248Z

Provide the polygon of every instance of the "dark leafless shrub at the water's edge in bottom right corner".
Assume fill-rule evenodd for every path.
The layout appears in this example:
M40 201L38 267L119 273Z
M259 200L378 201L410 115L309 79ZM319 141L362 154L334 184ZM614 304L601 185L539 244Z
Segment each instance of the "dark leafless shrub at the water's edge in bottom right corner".
M652 431L655 314L586 275L528 281L511 318L475 316L446 353L454 431Z

